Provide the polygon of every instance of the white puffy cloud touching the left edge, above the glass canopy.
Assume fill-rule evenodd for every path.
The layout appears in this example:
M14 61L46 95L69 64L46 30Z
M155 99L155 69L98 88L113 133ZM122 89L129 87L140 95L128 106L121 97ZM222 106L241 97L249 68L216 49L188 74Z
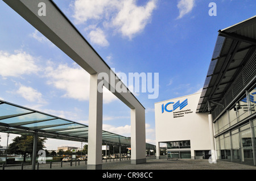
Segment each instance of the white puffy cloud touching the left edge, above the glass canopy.
M15 53L0 51L0 75L2 77L20 77L23 74L39 71L35 57L26 52L15 51Z

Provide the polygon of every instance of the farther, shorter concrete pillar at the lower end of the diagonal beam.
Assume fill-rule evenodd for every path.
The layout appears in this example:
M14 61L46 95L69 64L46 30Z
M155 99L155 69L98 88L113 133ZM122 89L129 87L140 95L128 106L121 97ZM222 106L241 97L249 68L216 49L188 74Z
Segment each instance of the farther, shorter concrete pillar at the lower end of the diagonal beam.
M145 110L131 109L131 164L146 163Z

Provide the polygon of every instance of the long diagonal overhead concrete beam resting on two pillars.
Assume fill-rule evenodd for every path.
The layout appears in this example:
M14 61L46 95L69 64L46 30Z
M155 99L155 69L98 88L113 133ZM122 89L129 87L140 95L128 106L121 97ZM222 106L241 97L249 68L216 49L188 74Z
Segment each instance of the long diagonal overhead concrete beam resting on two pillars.
M115 75L106 62L86 41L84 36L77 30L71 21L51 0L3 0L7 5L14 9L20 16L27 20L39 32L52 41L65 54L72 58L77 64L86 70L89 74L107 73L110 77ZM38 11L39 3L46 4L46 16L40 16ZM117 77L117 75L115 75ZM115 87L110 85L109 87ZM119 78L115 82L120 81ZM126 85L123 85L126 87ZM127 88L127 87L126 87ZM131 92L117 92L117 96L129 108L143 107Z

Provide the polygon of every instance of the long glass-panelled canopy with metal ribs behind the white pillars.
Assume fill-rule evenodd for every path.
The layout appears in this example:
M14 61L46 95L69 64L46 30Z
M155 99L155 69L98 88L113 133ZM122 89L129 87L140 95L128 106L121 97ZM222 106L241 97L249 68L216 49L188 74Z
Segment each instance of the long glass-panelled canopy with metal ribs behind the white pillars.
M0 132L88 142L88 125L0 100ZM131 145L131 138L102 131L102 144ZM146 144L147 148L155 145Z

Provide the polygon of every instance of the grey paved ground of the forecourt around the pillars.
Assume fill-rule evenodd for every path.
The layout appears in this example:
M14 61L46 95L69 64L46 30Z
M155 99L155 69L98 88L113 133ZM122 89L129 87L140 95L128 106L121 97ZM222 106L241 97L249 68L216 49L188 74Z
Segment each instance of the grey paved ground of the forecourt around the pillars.
M37 167L36 167L37 169ZM7 166L5 170L21 170L21 166ZM23 170L31 170L31 165L24 165ZM52 163L50 168L49 163L40 164L39 170L87 170L85 162ZM147 159L146 163L131 165L130 160L102 162L102 170L256 170L256 166L243 165L227 161L217 161L217 163L209 163L207 159Z

